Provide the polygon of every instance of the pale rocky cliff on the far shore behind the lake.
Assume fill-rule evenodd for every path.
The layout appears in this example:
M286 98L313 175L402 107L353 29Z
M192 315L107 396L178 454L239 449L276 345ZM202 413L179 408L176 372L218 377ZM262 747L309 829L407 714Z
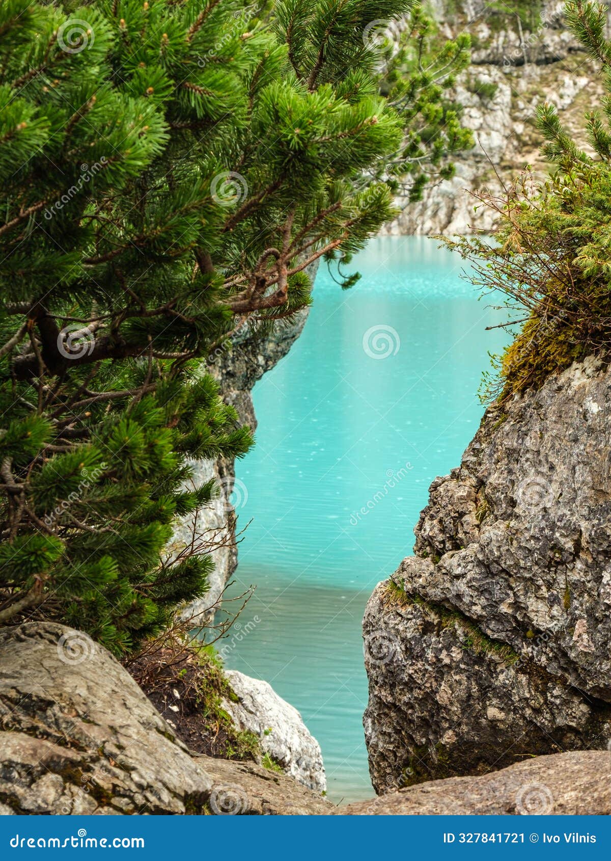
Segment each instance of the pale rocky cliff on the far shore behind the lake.
M474 210L477 201L468 192L500 193L526 165L546 173L535 126L541 102L556 105L573 137L583 142L583 114L602 96L601 79L567 32L561 0L433 0L431 6L443 38L464 31L472 37L472 66L460 76L452 98L463 106L463 125L472 129L475 146L454 158L452 180L430 183L423 200L404 208L385 232L490 230L492 214ZM404 201L398 205L403 208Z

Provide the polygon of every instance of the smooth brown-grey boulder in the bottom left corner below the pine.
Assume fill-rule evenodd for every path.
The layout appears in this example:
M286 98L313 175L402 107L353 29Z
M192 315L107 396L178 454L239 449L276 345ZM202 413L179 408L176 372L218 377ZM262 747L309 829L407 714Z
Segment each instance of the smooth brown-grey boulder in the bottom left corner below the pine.
M193 757L104 648L53 623L0 630L0 812L313 814L257 765Z

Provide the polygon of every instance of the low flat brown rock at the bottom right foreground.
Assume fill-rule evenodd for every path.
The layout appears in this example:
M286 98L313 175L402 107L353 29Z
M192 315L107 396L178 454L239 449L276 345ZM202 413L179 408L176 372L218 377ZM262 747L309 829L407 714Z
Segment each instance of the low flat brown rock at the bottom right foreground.
M344 815L609 815L611 754L559 753L482 777L448 777L356 802Z

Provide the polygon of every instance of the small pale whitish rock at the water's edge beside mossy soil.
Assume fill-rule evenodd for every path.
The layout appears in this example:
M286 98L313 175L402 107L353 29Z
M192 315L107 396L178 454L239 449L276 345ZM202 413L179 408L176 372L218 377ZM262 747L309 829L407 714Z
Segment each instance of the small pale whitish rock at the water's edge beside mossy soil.
M283 700L267 682L250 678L236 670L225 675L238 702L225 702L225 710L241 730L259 736L268 753L282 771L300 784L317 792L327 789L323 754L299 711Z

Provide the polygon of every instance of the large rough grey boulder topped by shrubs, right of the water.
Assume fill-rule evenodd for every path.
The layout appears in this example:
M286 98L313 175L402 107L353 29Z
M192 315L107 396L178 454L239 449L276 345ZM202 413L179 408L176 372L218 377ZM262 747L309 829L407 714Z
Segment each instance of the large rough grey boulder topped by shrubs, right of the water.
M611 738L611 371L491 407L367 604L379 792Z

